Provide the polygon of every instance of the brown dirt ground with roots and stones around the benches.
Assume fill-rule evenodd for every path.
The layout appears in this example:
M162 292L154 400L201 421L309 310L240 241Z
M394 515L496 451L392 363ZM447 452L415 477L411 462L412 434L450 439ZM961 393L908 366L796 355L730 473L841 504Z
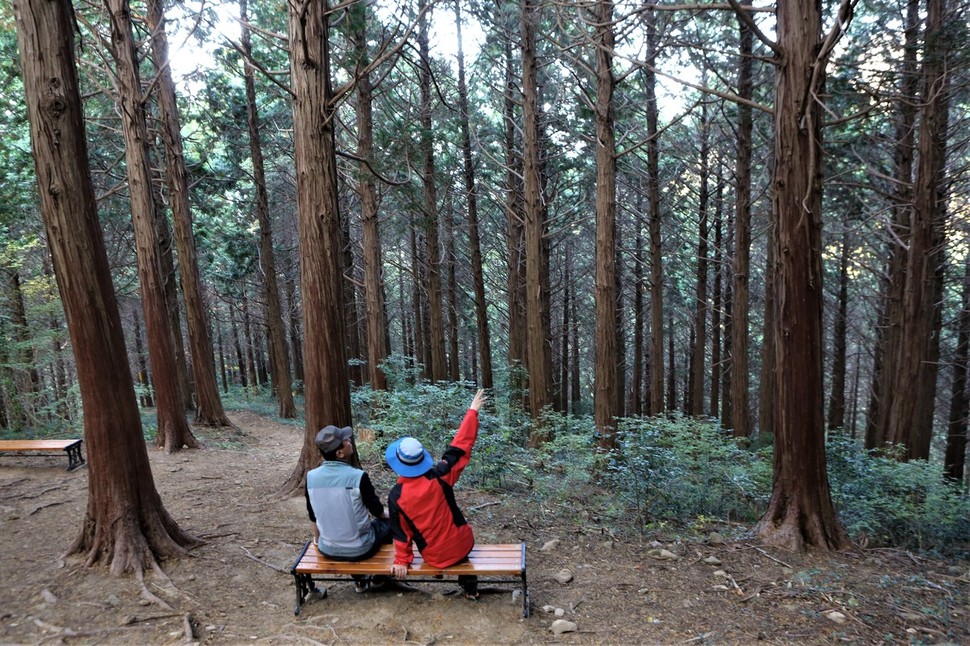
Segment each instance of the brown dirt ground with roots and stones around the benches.
M473 602L448 594L450 584L356 594L342 582L295 617L289 568L310 527L302 497L273 493L296 464L302 429L230 417L240 433L197 431L204 450L149 450L166 508L207 541L194 558L163 563L170 583L146 574L167 608L131 576L62 559L83 517L86 467L0 456L0 643L970 644L966 561L796 555L720 543L708 533L717 527L683 542L623 540L592 512L578 523L524 506L521 494L461 487L479 542L527 544L530 618L498 586ZM386 491L391 475L365 466ZM553 633L557 619L575 630Z

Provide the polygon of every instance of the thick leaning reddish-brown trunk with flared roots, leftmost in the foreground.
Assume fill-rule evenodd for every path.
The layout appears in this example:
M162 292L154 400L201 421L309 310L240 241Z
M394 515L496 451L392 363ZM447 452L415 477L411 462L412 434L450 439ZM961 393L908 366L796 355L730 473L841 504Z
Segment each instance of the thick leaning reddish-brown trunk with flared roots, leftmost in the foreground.
M71 3L13 8L41 213L84 409L88 506L68 554L141 581L156 559L200 541L169 516L152 479L88 166Z

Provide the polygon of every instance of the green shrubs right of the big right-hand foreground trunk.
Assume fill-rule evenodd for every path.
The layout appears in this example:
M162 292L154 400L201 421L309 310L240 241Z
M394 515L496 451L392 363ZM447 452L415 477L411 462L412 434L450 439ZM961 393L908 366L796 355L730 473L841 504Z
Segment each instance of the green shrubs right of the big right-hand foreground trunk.
M832 500L849 535L869 546L939 553L970 549L970 497L945 481L940 465L900 462L830 436Z

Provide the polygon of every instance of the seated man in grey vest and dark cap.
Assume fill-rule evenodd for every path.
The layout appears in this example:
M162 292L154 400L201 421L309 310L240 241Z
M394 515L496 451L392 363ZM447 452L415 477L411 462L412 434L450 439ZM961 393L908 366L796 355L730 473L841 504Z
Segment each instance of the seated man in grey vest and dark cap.
M353 434L349 426L320 429L315 441L324 461L306 476L313 540L321 554L335 561L364 561L391 542L384 504L367 472L350 464ZM365 592L386 583L387 577L355 576L354 582L357 592Z

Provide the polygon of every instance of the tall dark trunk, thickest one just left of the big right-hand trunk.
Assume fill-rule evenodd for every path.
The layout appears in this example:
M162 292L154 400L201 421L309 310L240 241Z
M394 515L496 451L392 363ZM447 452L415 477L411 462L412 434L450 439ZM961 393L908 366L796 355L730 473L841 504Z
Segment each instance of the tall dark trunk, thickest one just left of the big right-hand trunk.
M750 6L750 0L744 0ZM750 13L748 14L750 17ZM738 18L741 36L741 56L738 63L738 95L750 100L754 96L752 47L754 34L748 24ZM776 109L780 109L776 107ZM751 435L750 403L748 401L748 279L751 273L751 134L753 131L751 106L738 104L737 178L734 219L734 287L731 292L731 429L735 437Z

